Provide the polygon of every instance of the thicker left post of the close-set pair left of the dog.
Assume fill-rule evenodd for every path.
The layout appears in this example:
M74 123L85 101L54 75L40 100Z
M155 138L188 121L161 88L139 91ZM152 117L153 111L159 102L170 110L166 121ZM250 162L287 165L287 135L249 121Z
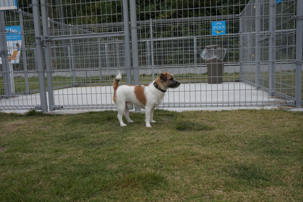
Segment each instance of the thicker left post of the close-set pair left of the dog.
M40 11L38 0L32 0L34 30L35 30L35 44L36 44L36 58L37 58L37 70L39 78L39 90L41 100L41 110L47 112L47 98L46 98L46 86L43 64L43 48L41 42L41 24L40 24Z

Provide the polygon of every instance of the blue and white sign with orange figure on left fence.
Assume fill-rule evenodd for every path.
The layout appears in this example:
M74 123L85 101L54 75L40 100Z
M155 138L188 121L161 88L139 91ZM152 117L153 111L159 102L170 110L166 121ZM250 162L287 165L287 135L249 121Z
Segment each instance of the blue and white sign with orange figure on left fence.
M8 46L9 63L19 63L21 47L21 28L20 26L9 26L6 29L6 41ZM0 64L2 64L0 56Z

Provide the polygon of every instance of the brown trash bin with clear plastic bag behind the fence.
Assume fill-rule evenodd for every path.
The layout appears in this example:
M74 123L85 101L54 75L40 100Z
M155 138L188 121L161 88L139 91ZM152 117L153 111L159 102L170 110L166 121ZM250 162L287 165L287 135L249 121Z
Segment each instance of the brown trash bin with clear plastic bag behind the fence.
M217 50L217 54L223 54L223 45L211 45L206 46L207 51ZM222 84L223 83L223 61L217 58L207 60L207 73L208 73L208 83L209 84Z

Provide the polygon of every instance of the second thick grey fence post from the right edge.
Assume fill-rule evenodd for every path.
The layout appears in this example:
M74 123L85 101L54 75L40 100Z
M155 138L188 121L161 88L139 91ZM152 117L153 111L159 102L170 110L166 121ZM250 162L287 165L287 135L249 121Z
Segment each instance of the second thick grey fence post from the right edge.
M269 2L269 95L275 90L275 62L276 62L276 0Z

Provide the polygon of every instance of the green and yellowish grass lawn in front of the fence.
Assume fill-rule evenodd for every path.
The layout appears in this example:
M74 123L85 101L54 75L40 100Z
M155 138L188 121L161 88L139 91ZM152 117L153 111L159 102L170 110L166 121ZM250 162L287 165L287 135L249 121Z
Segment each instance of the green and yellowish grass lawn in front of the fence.
M0 113L0 201L303 200L302 112L116 115Z

